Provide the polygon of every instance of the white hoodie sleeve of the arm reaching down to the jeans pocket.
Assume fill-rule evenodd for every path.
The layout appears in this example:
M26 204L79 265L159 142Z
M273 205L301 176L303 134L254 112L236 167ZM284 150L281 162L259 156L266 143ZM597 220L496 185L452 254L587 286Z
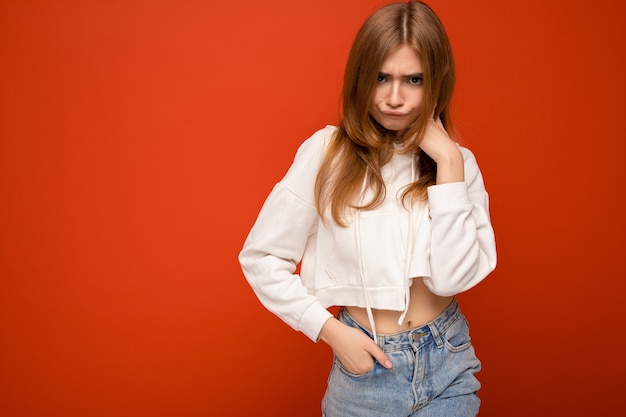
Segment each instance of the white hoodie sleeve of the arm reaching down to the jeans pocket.
M298 149L285 177L274 187L252 227L239 262L261 303L313 341L332 314L310 295L295 273L318 223L315 179L327 127Z

